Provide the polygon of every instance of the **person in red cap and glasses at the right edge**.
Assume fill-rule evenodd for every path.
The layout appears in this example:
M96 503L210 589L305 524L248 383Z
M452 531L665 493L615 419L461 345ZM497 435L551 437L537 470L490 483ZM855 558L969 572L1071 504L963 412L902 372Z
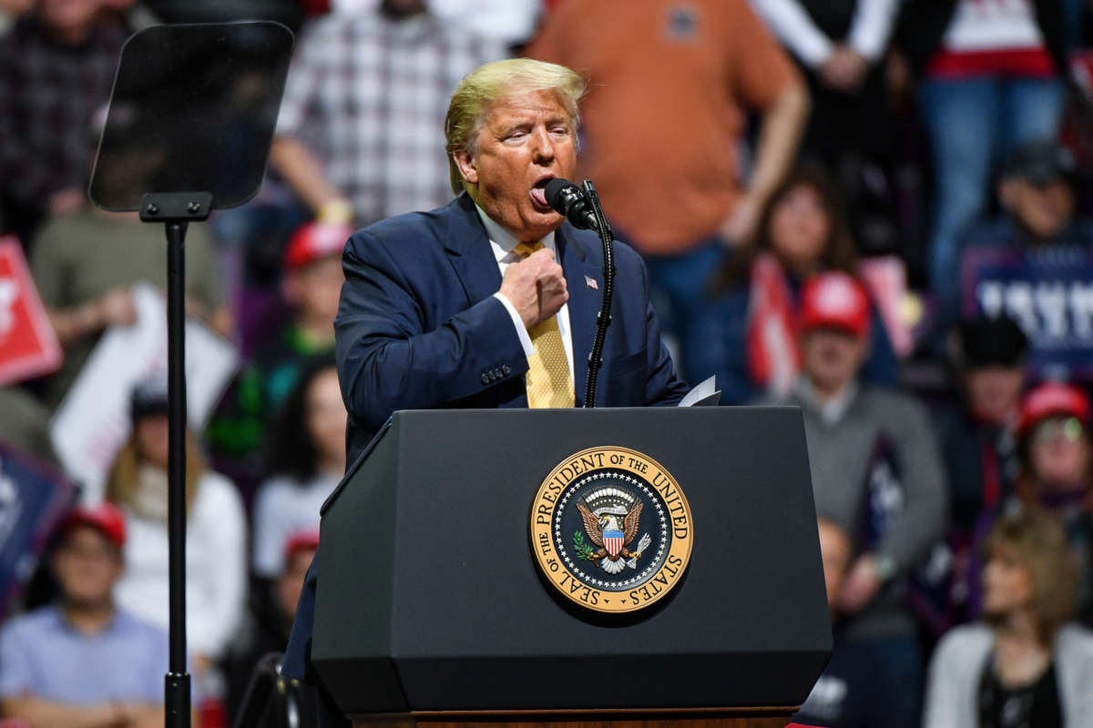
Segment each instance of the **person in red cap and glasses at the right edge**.
M1093 441L1090 402L1081 390L1048 382L1030 391L1018 426L1021 475L1016 492L1027 505L1058 516L1078 559L1078 619L1093 624Z

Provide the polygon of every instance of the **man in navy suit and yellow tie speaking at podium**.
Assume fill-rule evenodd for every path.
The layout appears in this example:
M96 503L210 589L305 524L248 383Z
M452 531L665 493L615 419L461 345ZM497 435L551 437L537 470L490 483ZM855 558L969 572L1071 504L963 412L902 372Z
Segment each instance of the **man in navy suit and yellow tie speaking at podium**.
M576 170L585 85L569 69L527 59L479 68L456 89L445 123L459 196L349 239L334 321L349 462L396 409L584 405L602 248L551 208L543 188ZM614 259L596 404L674 405L686 387L660 342L648 274L626 246L615 244ZM313 597L314 577L289 675L306 666Z

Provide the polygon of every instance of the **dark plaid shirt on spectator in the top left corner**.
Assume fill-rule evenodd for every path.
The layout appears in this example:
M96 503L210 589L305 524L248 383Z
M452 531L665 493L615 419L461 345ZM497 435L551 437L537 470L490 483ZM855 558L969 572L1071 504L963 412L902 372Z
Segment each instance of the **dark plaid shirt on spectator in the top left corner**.
M36 19L0 41L0 190L42 210L60 190L85 188L92 114L106 105L127 33L104 22L81 46L51 40Z

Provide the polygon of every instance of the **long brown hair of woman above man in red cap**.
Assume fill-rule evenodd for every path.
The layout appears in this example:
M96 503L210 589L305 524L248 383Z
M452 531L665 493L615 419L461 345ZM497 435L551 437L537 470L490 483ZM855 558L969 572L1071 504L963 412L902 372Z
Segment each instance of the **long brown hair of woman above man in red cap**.
M751 267L755 258L763 252L773 252L771 225L774 212L786 195L800 187L807 187L815 192L820 206L827 216L827 239L823 252L820 253L820 267L823 271L842 271L857 275L858 254L850 237L850 228L843 211L835 182L822 166L815 163L804 163L786 175L781 183L775 188L760 214L752 244L742 247L726 258L725 264L713 281L715 291L738 288L748 284Z

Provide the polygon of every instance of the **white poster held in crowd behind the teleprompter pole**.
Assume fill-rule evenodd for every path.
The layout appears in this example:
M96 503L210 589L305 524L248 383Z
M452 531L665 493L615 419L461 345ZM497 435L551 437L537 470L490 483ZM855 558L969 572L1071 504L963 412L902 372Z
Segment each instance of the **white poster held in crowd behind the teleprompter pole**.
M129 397L145 380L167 378L167 310L160 289L132 288L137 322L113 326L99 341L50 422L54 450L95 503L114 458L129 439ZM208 421L238 367L235 346L199 321L186 321L186 406L191 429Z

